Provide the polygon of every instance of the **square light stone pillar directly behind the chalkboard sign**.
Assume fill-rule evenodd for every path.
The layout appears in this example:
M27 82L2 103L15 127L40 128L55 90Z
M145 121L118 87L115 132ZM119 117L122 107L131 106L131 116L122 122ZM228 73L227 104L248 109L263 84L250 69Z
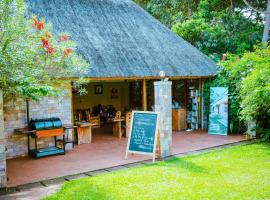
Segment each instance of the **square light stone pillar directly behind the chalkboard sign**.
M161 157L172 153L172 82L154 82L155 112L159 112Z

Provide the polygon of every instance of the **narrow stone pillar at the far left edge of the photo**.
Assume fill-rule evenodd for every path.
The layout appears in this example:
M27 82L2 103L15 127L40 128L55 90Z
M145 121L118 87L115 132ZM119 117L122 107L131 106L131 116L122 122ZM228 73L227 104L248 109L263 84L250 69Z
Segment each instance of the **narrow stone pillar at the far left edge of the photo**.
M0 188L5 187L6 184L6 145L4 134L3 94L2 91L0 91Z

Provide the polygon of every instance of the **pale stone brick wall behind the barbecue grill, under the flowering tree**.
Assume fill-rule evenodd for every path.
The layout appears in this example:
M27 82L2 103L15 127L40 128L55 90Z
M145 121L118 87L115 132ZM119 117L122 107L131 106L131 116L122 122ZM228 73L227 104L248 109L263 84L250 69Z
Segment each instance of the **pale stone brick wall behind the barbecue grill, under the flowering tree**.
M30 119L59 117L64 124L71 123L71 98L65 95L59 98L46 97L39 102L29 102ZM6 157L14 158L27 155L27 137L14 133L14 129L26 126L26 102L23 99L5 102L4 126L6 137ZM69 133L71 134L71 132ZM39 140L38 147L52 146L52 138ZM68 148L67 148L68 149Z

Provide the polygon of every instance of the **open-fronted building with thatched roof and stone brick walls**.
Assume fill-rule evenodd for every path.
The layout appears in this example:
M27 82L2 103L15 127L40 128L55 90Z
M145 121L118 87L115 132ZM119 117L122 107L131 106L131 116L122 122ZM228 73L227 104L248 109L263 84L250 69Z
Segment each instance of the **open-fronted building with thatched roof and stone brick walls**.
M90 63L87 95L80 96L73 90L58 99L31 101L30 118L57 116L63 123L73 123L83 118L78 116L79 112L89 110L94 114L99 104L112 105L122 112L152 110L153 81L160 80L160 72L164 72L173 82L172 96L185 110L188 128L204 127L202 87L204 80L215 75L215 63L136 3L131 0L27 0L27 3L30 13L52 22L55 33L70 33L77 42L76 51ZM194 99L196 121L191 112ZM4 102L1 112L5 142L0 142L0 185L5 186L5 160L27 155L26 136L14 133L14 129L26 126L25 100ZM51 140L44 139L38 145L50 143Z

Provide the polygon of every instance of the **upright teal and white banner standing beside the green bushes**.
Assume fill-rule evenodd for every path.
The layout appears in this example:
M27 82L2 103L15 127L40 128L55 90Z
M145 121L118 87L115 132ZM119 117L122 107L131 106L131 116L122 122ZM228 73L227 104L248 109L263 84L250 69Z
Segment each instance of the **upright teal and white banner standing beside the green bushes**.
M228 134L228 88L210 88L208 134Z

